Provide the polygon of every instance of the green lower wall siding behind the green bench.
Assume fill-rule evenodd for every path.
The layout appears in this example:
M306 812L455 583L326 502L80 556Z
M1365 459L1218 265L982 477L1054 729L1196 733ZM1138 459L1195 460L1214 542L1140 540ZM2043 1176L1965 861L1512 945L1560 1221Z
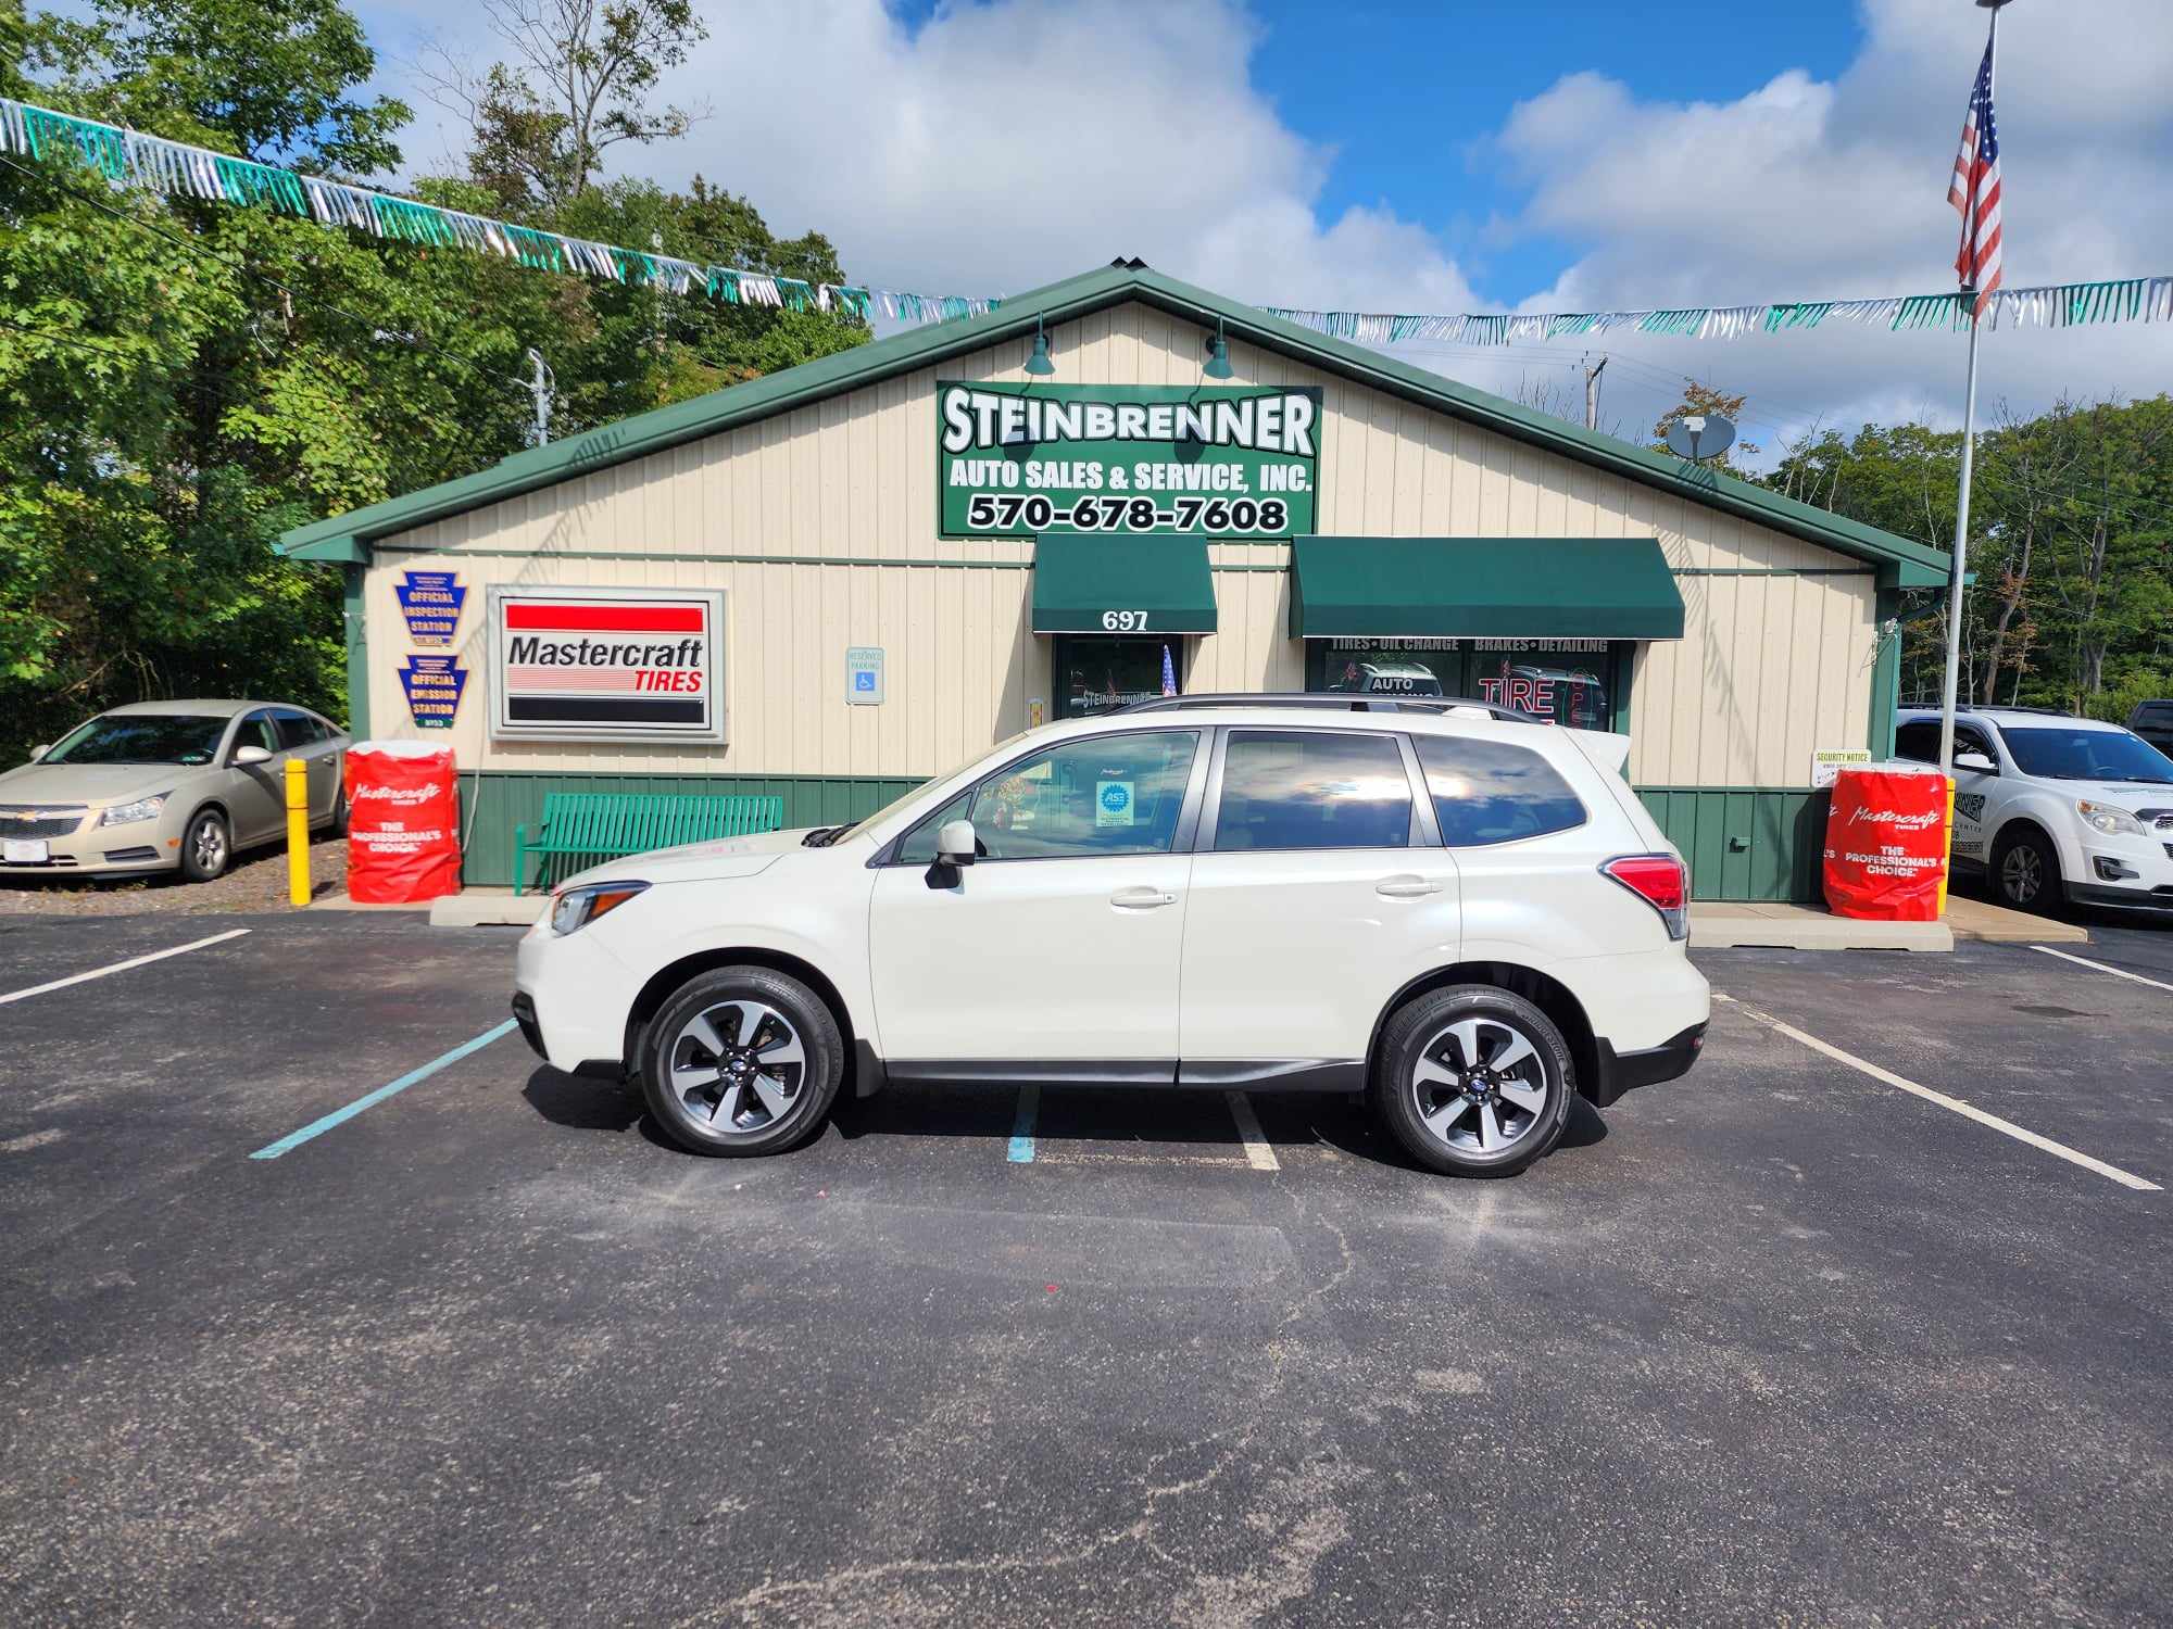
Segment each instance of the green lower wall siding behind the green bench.
M874 815L926 775L578 775L485 769L461 773L461 882L472 888L513 886L513 828L543 821L550 793L678 793L758 795L784 799L784 825L839 825ZM558 880L593 860L537 860L541 880ZM539 877L530 877L537 882Z

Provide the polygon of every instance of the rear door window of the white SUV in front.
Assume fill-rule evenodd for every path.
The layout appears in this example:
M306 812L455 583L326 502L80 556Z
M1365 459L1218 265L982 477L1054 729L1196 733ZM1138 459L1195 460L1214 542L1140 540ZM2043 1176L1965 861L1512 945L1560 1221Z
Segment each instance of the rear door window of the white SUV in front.
M1395 736L1232 730L1217 849L1402 849L1410 775Z

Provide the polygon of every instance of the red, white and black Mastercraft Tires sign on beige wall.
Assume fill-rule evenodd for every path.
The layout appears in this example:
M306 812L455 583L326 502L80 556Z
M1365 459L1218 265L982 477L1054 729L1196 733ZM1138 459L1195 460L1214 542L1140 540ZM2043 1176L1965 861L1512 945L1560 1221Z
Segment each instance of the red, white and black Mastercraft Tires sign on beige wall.
M724 741L724 589L489 595L500 741Z

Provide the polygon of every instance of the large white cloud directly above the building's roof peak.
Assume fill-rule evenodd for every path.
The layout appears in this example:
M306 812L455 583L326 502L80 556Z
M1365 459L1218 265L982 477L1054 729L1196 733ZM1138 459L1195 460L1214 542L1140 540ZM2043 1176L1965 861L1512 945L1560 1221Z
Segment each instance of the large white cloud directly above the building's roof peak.
M402 54L417 13L393 4L376 15ZM795 0L711 7L708 24L665 89L713 115L619 152L745 193L778 232L821 228L856 278L1017 293L1136 254L1282 304L1473 304L1417 224L1317 215L1332 154L1252 85L1258 28L1234 0L991 0L917 28L880 0Z

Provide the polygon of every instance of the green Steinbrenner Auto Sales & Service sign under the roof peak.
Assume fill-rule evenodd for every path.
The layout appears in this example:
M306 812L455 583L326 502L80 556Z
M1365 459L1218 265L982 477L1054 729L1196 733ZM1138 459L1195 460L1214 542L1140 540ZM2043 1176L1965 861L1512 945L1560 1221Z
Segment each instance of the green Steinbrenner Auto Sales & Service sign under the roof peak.
M1321 391L937 382L943 536L1312 532Z

